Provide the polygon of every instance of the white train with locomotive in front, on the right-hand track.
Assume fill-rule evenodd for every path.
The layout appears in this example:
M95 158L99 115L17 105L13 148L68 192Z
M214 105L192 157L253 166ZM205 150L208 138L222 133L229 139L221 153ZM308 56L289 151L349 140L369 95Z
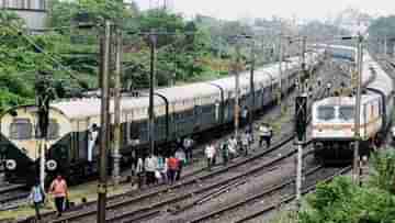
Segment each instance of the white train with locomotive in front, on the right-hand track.
M328 53L335 57L356 60L356 48L331 45ZM369 155L385 136L392 121L394 107L393 79L363 52L362 90L360 105L361 154ZM356 97L329 97L314 102L312 107L312 141L315 155L325 163L348 163L354 149Z

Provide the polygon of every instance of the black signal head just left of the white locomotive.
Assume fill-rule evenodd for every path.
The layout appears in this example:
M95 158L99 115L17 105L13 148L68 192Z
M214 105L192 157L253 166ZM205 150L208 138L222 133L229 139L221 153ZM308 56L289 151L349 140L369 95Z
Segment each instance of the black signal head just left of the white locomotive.
M296 97L295 132L298 141L303 141L307 127L307 94Z

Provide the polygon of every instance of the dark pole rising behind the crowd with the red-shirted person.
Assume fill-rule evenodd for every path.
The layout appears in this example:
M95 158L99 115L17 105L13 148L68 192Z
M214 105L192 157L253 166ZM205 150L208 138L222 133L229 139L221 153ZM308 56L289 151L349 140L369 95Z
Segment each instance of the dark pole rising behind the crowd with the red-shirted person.
M150 154L155 150L155 114L154 114L154 88L155 88L155 60L156 60L156 43L157 34L148 35L150 45L150 73L149 73L149 147Z

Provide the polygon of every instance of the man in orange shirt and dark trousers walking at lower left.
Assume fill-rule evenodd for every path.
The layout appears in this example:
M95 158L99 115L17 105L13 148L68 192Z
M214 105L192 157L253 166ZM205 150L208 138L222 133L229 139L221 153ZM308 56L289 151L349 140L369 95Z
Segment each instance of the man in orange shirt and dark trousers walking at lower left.
M57 216L61 216L61 213L65 211L68 191L66 180L61 177L60 174L58 174L50 183L49 191L55 198L55 207L58 213Z

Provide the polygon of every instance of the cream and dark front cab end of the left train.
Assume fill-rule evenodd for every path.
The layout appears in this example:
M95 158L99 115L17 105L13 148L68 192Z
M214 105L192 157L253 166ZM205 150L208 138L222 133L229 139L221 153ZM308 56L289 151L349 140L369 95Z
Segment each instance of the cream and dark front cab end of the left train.
M44 147L47 170L56 169L57 161L48 158L49 148L67 134L68 121L52 108L48 135L44 142L37 137L37 118L35 105L13 108L0 116L0 156L4 160L5 179L10 182L32 183L38 178L41 149Z

